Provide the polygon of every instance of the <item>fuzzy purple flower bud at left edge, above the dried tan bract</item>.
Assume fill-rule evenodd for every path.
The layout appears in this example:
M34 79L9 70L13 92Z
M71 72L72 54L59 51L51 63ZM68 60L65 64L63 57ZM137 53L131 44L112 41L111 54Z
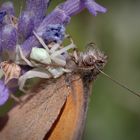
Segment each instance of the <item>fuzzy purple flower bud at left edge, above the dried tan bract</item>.
M8 54L10 59L14 59L17 44L17 30L11 25L5 25L1 31L2 53Z

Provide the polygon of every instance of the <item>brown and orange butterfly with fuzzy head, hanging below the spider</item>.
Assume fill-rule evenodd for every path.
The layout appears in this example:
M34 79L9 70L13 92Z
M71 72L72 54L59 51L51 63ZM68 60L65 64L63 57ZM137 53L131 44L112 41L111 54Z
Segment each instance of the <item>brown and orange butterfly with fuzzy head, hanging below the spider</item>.
M72 73L40 82L30 91L33 97L23 97L26 102L8 113L9 119L0 131L1 139L81 139L91 82L100 73L98 69L103 69L106 56L94 48L76 55L67 66Z

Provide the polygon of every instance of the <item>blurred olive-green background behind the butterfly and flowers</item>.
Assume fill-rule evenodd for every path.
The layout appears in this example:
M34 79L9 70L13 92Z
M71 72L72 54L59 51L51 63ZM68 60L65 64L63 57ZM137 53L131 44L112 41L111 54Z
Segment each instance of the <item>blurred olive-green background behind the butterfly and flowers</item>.
M19 11L22 1L13 1ZM52 0L49 10L60 2ZM139 92L140 1L97 2L108 12L93 17L85 10L72 18L67 32L81 49L95 42L108 55L104 71ZM139 107L140 98L100 74L94 82L83 140L140 140Z

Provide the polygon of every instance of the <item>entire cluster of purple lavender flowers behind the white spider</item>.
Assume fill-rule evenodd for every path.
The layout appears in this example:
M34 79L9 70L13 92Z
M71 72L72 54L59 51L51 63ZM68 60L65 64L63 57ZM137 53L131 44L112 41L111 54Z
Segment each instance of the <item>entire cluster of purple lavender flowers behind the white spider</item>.
M13 20L15 16L13 3L2 4L0 7L0 61L5 60L3 55L7 54L6 61L12 60L16 63L17 45L21 46L25 57L29 56L33 47L41 47L33 35L33 31L41 36L46 43L61 42L64 39L65 27L70 23L72 16L84 9L88 9L94 16L98 12L106 12L106 8L94 0L66 0L46 16L49 3L50 0L26 0L25 9L19 15L16 23ZM21 69L25 70L22 66ZM13 88L9 84L5 85L0 80L0 105L8 100L9 92Z

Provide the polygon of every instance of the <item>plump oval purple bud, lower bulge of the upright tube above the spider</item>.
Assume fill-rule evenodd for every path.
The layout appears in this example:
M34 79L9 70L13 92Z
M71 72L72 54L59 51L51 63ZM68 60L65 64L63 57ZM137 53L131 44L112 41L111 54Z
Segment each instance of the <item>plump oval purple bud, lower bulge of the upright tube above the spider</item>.
M32 12L22 12L18 23L18 34L20 40L27 39L34 29L34 16Z

